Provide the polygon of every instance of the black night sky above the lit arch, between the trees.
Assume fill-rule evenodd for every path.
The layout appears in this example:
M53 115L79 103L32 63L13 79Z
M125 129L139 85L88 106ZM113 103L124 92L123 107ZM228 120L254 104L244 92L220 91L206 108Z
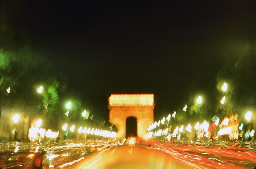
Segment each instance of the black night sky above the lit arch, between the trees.
M224 57L253 43L256 29L255 1L167 2L32 0L12 20L67 73L67 90L83 105L105 111L111 93L153 93L158 118L216 90Z

